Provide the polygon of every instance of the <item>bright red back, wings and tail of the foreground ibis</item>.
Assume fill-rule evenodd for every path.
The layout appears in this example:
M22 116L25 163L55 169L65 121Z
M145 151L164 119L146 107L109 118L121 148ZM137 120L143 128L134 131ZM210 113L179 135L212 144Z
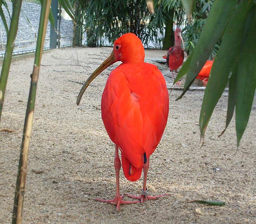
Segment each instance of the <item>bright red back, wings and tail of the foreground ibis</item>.
M108 77L102 120L120 147L124 175L136 181L167 123L169 96L163 75L148 63L123 63Z

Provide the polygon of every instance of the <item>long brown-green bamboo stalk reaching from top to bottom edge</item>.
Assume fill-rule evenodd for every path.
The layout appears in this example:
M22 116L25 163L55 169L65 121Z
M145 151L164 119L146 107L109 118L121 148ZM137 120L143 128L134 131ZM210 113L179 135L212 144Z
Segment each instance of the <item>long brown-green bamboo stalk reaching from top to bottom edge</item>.
M15 198L13 203L12 223L22 223L22 209L24 201L25 180L27 176L28 149L33 125L34 108L36 102L36 88L40 70L41 56L43 52L44 38L47 29L51 0L43 0L37 36L36 54L33 74L31 74L30 93L28 96L27 111L24 122L21 153L19 158L18 175L16 181Z

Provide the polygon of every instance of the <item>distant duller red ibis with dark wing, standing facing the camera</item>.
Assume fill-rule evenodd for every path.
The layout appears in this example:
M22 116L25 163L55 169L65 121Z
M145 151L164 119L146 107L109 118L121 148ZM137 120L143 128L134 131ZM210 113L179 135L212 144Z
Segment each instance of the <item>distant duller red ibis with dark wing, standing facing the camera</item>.
M167 65L169 66L170 71L172 71L172 81L173 82L177 76L177 69L179 68L179 66L182 65L182 62L184 60L184 50L181 48L181 41L183 43L183 48L185 49L184 41L181 36L180 28L175 29L174 37L175 37L174 47L171 47L168 50L168 53L166 56ZM163 58L164 58L164 56L163 56ZM175 71L175 73L176 73L175 76L173 74L173 71ZM179 83L177 83L177 84L179 87L181 87L181 85Z

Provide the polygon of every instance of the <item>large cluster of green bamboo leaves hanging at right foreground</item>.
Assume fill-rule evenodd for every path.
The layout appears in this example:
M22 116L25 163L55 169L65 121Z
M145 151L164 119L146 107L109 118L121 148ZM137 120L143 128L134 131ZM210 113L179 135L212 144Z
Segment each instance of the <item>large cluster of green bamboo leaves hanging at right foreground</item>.
M235 108L238 147L249 120L256 88L255 0L242 0L239 3L214 1L197 46L178 74L177 80L188 74L183 93L178 99L188 90L222 35L204 93L199 124L201 137L204 138L213 110L229 81L226 128Z

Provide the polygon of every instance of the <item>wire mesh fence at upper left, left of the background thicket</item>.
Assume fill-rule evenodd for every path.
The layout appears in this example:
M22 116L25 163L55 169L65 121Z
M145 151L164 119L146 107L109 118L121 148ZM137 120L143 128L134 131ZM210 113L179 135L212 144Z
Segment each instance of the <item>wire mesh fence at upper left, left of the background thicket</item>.
M12 2L7 1L10 15L12 15ZM8 10L2 6L8 27L10 26L10 16ZM41 4L30 1L23 1L19 18L19 28L15 39L13 55L34 52L36 50L37 32L40 20ZM58 20L59 23L59 20ZM60 47L71 46L73 38L73 22L61 19ZM7 42L7 35L3 21L0 19L0 56L3 57ZM47 24L47 32L44 41L44 50L50 48L50 22Z

